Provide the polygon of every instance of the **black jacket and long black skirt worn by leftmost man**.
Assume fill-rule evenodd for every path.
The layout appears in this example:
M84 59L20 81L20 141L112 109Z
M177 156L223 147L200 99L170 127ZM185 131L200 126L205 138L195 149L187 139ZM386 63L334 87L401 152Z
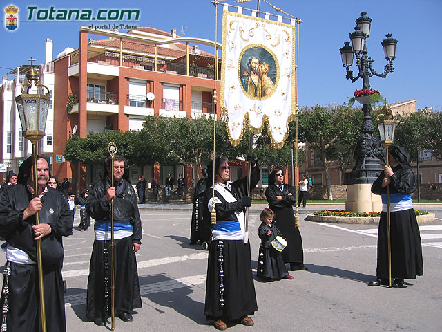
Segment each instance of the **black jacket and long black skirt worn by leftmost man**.
M31 157L32 158L32 157ZM24 162L23 162L24 164ZM22 164L22 165L23 165ZM26 179L25 179L26 180ZM28 208L32 199L26 184L18 183L0 195L0 234L11 246L19 248L28 255L35 257L36 241L30 225L35 224L35 216L23 221L23 210ZM50 242L57 241L57 248L62 248L61 237L70 235L72 217L66 199L52 188L41 198L43 207L39 212L41 223L51 225L52 231L41 239L42 252ZM62 250L61 250L62 251ZM43 279L46 307L46 331L66 331L64 311L64 285L61 277L61 259L47 262L43 255ZM34 261L36 261L35 259ZM16 264L7 261L6 273L3 276L1 293L0 324L6 321L10 332L41 331L39 278L37 264ZM9 293L5 294L6 286ZM5 304L9 310L5 313Z

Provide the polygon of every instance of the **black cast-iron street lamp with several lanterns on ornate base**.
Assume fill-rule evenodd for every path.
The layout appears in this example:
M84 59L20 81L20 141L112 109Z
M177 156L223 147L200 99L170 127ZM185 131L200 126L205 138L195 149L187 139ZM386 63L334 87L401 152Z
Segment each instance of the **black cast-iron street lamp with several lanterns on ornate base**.
M386 38L381 42L385 59L387 64L384 67L383 73L377 73L372 63L374 60L368 56L367 39L369 37L372 19L367 17L366 12L361 12L361 17L356 19L356 28L354 32L349 34L350 42L345 42L345 46L339 49L341 60L346 71L347 80L356 82L359 78L362 79L362 89L370 91L369 77L378 76L385 78L388 73L394 72L393 60L396 57L397 40L392 38L392 35L386 35ZM358 68L358 75L354 76L350 69L353 66L353 58L356 57L356 67ZM356 166L352 170L350 176L350 184L359 183L373 183L378 174L381 172L381 159L383 159L383 148L378 142L378 138L374 137L374 124L372 119L372 106L370 105L370 98L358 98L358 101L363 104L363 136L358 138L358 145L356 147L355 156Z

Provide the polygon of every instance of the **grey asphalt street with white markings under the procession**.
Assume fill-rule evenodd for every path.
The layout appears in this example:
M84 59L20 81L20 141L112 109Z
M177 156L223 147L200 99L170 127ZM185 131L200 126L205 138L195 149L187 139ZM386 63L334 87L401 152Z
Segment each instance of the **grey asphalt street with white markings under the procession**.
M407 288L389 289L367 286L375 276L376 225L303 221L308 210L319 210L312 205L300 210L309 270L291 273L293 280L260 282L258 214L263 206L252 205L249 221L255 326L231 324L227 331L442 331L442 207L431 208L436 220L421 226L424 276L408 280ZM116 318L115 331L215 331L203 315L207 252L189 245L191 205L140 205L140 214L144 235L137 262L143 306L132 323ZM85 320L93 229L81 232L78 223L77 214L74 234L64 240L67 331L109 331L110 324L106 329Z

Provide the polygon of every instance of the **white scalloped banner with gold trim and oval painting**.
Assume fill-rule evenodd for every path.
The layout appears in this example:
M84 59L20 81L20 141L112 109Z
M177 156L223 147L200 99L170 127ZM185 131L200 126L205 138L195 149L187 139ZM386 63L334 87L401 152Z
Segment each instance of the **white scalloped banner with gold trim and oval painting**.
M222 19L221 105L227 115L229 140L238 145L247 126L260 133L268 122L273 147L288 136L296 107L295 29L224 6ZM280 17L278 17L280 18Z

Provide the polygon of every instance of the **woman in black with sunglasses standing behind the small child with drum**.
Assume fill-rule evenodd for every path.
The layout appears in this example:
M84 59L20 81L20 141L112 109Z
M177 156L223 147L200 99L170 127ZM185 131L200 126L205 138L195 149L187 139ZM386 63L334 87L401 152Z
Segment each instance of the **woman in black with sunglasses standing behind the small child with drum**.
M299 228L295 225L293 205L296 203L294 187L284 183L282 167L276 166L269 175L269 186L265 191L269 208L275 212L275 225L287 238L289 246L282 250L282 260L290 264L290 270L307 270Z

